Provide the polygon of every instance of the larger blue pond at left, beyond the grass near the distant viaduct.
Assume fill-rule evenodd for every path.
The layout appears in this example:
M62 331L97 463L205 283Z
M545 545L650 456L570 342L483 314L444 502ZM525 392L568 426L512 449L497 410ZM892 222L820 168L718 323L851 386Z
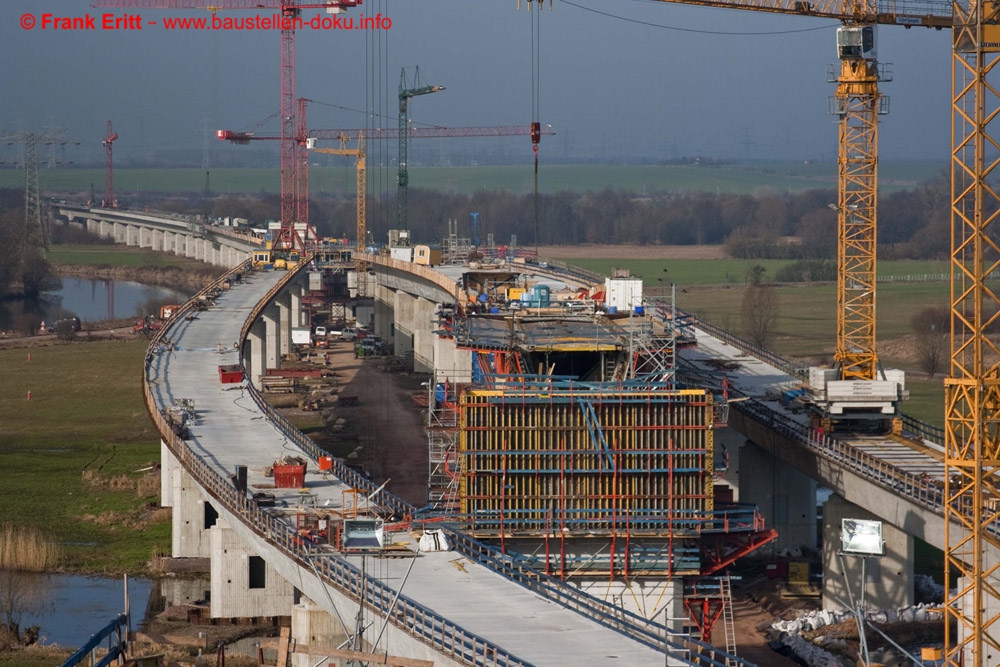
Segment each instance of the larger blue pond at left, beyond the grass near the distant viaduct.
M46 292L37 302L11 299L0 302L0 330L16 328L18 317L30 315L41 322L52 322L75 315L83 322L98 322L138 315L143 304L151 301L184 303L194 290L151 287L126 281L63 278L62 289Z

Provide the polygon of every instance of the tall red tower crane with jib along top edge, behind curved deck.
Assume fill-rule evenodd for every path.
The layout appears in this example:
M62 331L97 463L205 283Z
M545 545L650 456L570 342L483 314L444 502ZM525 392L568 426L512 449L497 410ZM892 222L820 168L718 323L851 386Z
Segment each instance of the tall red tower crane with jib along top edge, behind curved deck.
M325 9L341 11L356 7L361 0L322 0L320 2L299 2L299 0L96 0L95 7L126 7L137 9L205 9L218 12L233 10L276 10L281 19L281 230L274 240L277 250L304 250L305 243L296 231L300 199L298 165L304 155L295 141L295 28L301 19L303 9ZM308 227L307 227L308 235Z

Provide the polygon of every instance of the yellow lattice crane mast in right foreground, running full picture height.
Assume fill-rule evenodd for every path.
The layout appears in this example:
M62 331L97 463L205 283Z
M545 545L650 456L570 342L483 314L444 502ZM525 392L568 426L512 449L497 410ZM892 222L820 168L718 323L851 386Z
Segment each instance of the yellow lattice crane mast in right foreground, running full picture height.
M945 379L945 664L1000 660L1000 7L960 0L952 29L951 363ZM953 589L950 582L957 581ZM954 639L952 639L954 637Z

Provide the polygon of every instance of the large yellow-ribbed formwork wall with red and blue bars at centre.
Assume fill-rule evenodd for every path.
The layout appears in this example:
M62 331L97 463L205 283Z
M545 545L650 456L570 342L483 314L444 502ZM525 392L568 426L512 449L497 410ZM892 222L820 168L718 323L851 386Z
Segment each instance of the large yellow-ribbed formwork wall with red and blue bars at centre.
M706 390L469 388L459 416L459 504L476 536L690 538L711 523Z

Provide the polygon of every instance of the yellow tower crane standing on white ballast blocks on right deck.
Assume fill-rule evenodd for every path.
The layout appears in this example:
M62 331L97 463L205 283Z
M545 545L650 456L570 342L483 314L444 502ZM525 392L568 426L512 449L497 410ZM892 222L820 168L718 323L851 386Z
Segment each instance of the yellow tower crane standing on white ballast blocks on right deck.
M879 24L947 28L952 20L950 4L936 0L657 1L816 16L843 23L837 30L839 74L831 77L837 83L831 111L839 120L835 368L815 369L810 389L819 412L818 425L829 428L834 419L855 417L889 419L897 428L901 376L886 377L875 348L878 116L888 111L888 99L880 94L878 83L890 78L877 60L876 28ZM541 9L541 1L535 4ZM528 6L531 9L531 3Z

